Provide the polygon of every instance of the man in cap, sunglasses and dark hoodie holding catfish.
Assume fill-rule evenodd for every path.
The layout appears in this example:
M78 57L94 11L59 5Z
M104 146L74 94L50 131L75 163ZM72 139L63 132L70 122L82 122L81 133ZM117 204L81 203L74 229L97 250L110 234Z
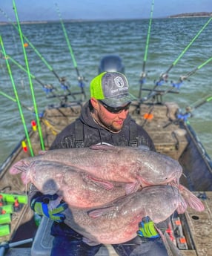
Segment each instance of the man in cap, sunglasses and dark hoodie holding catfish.
M145 145L155 151L148 133L130 117L129 107L134 97L128 92L125 75L118 72L103 72L90 82L90 100L82 107L79 119L67 125L56 137L50 149L89 147L96 144L112 144L119 146ZM53 249L51 256L93 256L101 245L83 239L62 222L62 203L53 211L47 210L44 198L55 200L54 196L42 195L30 186L31 208L47 217L56 220L51 234ZM163 228L165 223L162 223ZM153 223L145 218L138 227L139 236L125 244L113 245L118 255L168 255L161 237L153 227ZM122 230L120 230L122 232Z

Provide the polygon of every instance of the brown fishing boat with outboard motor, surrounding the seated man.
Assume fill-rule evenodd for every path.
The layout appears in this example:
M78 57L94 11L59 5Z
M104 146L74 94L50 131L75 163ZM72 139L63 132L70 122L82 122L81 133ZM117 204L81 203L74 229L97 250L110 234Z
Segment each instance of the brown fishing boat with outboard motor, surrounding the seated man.
M105 56L99 65L99 73L107 70L124 72L125 67L119 56ZM160 88L148 91L148 97L135 100L130 105L130 115L139 125L142 125L152 138L156 151L178 160L183 168L180 183L196 194L205 205L205 211L196 212L188 209L185 214L174 214L167 230L169 255L210 255L211 254L211 202L212 202L212 161L195 131L185 119L191 109L185 114L179 113L175 102L164 102L166 93ZM72 95L69 95L72 96ZM48 105L40 117L42 137L46 150L50 148L56 134L80 114L85 93L78 93L79 99L61 99L57 105ZM81 97L83 96L83 97ZM83 99L83 100L82 100ZM154 100L152 100L154 99ZM41 142L36 122L29 131L34 154L39 154ZM53 237L50 236L51 220L34 214L27 205L27 188L22 184L19 175L10 175L10 167L23 159L30 157L27 148L27 138L16 145L10 156L0 168L1 202L10 205L10 221L4 225L4 235L0 236L0 255L49 255ZM1 214L2 215L2 214ZM38 224L39 223L39 224ZM1 227L0 226L0 227ZM6 228L7 226L7 228ZM173 246L173 244L175 246ZM176 250L177 248L177 250ZM116 255L112 246L104 245L97 255Z

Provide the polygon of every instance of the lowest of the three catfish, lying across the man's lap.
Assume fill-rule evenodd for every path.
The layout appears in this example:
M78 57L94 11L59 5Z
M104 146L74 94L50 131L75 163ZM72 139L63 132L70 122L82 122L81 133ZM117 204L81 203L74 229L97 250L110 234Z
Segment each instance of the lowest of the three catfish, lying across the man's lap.
M87 240L96 243L125 243L136 237L142 217L154 223L166 220L174 211L187 208L173 186L149 186L106 204L101 209L67 209L64 222Z

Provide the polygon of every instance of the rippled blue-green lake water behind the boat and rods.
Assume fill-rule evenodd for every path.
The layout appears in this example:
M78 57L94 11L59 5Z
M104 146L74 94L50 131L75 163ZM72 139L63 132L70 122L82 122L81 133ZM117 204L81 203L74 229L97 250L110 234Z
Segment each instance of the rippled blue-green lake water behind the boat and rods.
M195 105L199 99L211 94L211 63L205 63L211 58L212 52L212 22L195 36L209 18L191 19L153 19L148 46L145 71L148 79L145 88L153 88L159 76L173 65L168 75L168 82L162 85L170 88L170 81L178 82L179 77L197 68L196 72L183 82L180 93L169 93L164 101L175 101L182 111L188 105ZM149 21L110 21L110 22L69 22L65 23L67 35L76 59L79 72L85 77L85 91L89 96L89 83L98 73L99 62L107 54L118 54L125 65L125 74L130 82L130 90L139 95L139 77L145 56L145 46ZM77 91L78 81L67 42L64 38L62 25L59 22L46 24L22 24L24 36L33 43L43 59L53 68L56 75L65 76L70 83L70 90ZM12 24L0 26L0 33L7 55L25 67L24 54L19 33ZM195 40L193 40L195 39ZM193 43L191 44L191 42ZM25 41L24 41L25 42ZM58 91L64 93L56 75L47 68L42 59L36 55L32 47L25 47L30 73L44 84L52 84ZM179 59L178 59L179 57ZM176 61L176 62L175 62ZM33 106L30 94L29 79L17 65L10 62L13 81L19 93L22 104ZM7 65L1 54L0 59L0 91L14 97L13 86L7 72ZM35 90L38 111L57 99L46 99L42 86L32 79ZM145 93L143 94L145 96ZM4 162L17 143L24 137L24 128L16 102L0 94L0 164ZM35 116L23 108L27 126ZM211 136L212 101L193 111L189 119L208 154L212 156Z

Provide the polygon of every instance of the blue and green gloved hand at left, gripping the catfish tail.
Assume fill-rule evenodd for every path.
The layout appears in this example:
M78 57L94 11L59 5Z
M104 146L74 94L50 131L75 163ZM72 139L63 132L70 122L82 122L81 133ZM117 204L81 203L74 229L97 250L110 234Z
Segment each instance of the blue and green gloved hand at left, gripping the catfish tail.
M62 211L67 209L67 203L59 203L57 194L45 194L41 197L36 197L30 204L31 209L37 214L49 217L56 222L63 222L65 219Z

